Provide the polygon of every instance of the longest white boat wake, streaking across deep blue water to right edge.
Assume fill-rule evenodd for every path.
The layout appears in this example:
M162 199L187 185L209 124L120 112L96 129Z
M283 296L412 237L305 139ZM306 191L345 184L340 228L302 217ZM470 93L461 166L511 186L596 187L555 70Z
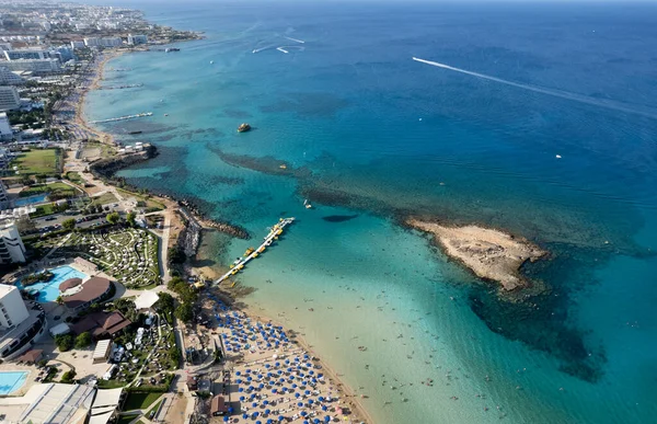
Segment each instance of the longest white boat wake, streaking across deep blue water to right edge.
M508 81L508 80L504 80L502 78L487 76L485 73L479 73L479 72L469 71L465 69L461 69L461 68L454 68L454 67L446 65L446 64L440 64L440 62L431 61L431 60L425 60L425 59L420 59L417 57L414 57L413 60L425 64L425 65L435 66L437 68L442 68L442 69L451 70L454 72L465 73L468 76L481 78L484 80L499 82L500 84L506 84L506 85L516 87L518 89L533 91L535 93L552 95L555 98L572 100L575 102L586 103L586 104L590 104L593 106L607 107L607 108L619 111L619 112L624 112L624 113L629 113L629 114L635 114L635 115L641 115L641 116L649 117L653 119L657 119L657 112L636 110L636 108L633 108L623 103L614 102L611 100L595 99L595 98L589 98L589 96L583 95L583 94L569 93L567 91L555 90L555 89L545 89L545 88L542 88L539 85L531 85L531 84L523 84L520 82Z

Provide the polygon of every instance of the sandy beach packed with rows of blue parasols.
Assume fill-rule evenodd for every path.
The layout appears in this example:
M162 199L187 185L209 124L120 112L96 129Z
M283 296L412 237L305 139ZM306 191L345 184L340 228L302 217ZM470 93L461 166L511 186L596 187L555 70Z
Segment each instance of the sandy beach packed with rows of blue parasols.
M229 307L229 302L223 293L209 293L203 305L220 322L218 333L227 362L233 364L232 381L239 387L231 396L240 400L242 419L272 415L304 423L325 422L330 416L331 421L373 423L359 398L300 334L249 307ZM269 413L263 416L265 411Z

